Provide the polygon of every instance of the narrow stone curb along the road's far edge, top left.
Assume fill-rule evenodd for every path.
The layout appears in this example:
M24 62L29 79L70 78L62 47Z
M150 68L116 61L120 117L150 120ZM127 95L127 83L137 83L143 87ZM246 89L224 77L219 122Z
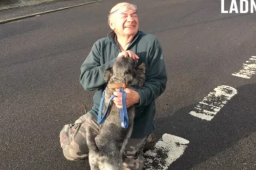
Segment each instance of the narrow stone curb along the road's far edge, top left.
M101 2L101 1L103 1L103 0L96 0L96 1L86 2L86 3L82 3L82 4L78 4L78 5L72 5L72 6L66 6L66 7L62 7L62 8L57 8L57 9L54 9L54 10L47 10L47 11L44 11L44 12L37 12L37 13L33 13L33 14L28 14L28 15L24 15L24 16L10 18L8 20L0 20L0 24L8 23L8 22L11 22L11 21L16 21L16 20L21 20L21 19L24 19L24 18L30 18L30 17L42 15L42 14L47 14L47 13L51 13L51 12L66 10L66 9L69 9L69 8L75 8L75 7L78 7L78 6L94 4L94 3L97 3L97 2Z

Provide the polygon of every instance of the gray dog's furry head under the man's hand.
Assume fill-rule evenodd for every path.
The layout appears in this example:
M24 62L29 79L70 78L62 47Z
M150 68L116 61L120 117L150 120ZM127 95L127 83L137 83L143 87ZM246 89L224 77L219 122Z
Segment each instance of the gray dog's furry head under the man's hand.
M138 66L137 60L130 57L118 57L113 67L105 70L104 80L109 83L130 84L140 68L141 66ZM145 71L145 68L143 69Z

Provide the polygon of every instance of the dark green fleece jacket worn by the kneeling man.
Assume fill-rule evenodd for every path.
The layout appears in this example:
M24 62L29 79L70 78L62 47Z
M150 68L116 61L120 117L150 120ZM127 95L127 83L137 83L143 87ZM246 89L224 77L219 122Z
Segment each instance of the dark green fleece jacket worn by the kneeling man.
M162 48L154 35L138 31L127 50L138 55L139 64L146 64L146 82L140 89L135 89L140 96L136 104L136 115L131 138L143 138L154 130L153 119L156 113L155 100L166 87L166 68ZM96 90L94 105L89 111L97 115L100 98L106 88L104 70L113 66L120 51L116 35L112 31L107 37L94 43L92 50L81 66L80 83L86 91Z

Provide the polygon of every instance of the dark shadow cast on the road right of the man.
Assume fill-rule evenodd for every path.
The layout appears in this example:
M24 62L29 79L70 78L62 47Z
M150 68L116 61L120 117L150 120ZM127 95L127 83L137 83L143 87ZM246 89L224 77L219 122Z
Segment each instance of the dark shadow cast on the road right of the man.
M190 141L184 154L169 169L190 169L256 131L256 114L253 110L256 104L256 84L247 84L237 90L238 94L211 121L188 114L196 104L183 107L168 119L156 119L157 131Z

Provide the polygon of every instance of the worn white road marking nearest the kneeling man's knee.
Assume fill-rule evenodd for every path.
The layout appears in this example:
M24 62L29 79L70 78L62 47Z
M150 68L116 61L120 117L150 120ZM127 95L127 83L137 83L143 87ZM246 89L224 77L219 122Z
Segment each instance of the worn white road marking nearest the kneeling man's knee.
M184 153L188 143L186 139L165 133L153 149L144 153L143 170L167 170Z

